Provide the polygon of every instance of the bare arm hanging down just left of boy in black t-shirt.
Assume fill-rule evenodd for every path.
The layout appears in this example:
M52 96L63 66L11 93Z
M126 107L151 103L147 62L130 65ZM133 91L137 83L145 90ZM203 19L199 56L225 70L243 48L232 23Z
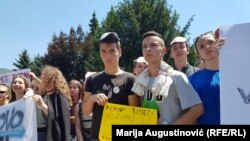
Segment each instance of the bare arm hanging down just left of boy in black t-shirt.
M79 117L79 106L82 106L82 104L80 105L77 104L75 106L75 131L76 131L76 139L77 141L83 141L83 137L82 137L82 132L81 132L81 121L80 121L80 117Z

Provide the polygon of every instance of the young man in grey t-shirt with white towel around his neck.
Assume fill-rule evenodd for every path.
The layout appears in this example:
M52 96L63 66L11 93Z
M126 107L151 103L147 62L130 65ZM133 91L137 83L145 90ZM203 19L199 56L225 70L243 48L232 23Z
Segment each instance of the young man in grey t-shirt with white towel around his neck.
M166 50L161 34L143 34L142 54L148 69L136 79L132 91L143 98L142 107L158 111L158 124L195 124L203 114L202 102L187 76L163 61Z

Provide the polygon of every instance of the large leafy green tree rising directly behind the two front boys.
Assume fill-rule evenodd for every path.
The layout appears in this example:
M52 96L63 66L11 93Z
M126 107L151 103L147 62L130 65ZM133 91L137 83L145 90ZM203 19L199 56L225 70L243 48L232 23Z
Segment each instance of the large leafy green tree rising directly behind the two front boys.
M133 59L141 56L142 34L154 30L164 36L166 46L176 35L186 35L190 23L180 29L179 15L172 11L166 0L124 0L111 7L102 24L102 31L117 32L121 38L123 55L120 64L132 71ZM189 20L191 22L191 20ZM169 52L164 57L170 61Z

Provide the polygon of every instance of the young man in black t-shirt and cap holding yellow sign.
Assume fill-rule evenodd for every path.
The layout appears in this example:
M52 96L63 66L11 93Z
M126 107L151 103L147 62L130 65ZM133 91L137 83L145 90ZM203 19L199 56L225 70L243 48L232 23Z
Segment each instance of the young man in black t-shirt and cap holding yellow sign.
M131 88L135 75L119 66L122 55L120 38L115 32L106 32L100 38L99 52L104 70L88 77L85 83L83 113L93 113L91 136L99 140L103 106L106 102L139 106L139 97Z

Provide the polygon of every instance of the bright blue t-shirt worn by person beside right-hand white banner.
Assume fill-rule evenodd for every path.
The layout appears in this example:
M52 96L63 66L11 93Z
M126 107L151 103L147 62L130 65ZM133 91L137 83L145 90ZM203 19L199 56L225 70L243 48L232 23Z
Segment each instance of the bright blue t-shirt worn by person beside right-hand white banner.
M191 84L203 102L204 114L199 124L220 124L219 70L200 70L189 77Z

